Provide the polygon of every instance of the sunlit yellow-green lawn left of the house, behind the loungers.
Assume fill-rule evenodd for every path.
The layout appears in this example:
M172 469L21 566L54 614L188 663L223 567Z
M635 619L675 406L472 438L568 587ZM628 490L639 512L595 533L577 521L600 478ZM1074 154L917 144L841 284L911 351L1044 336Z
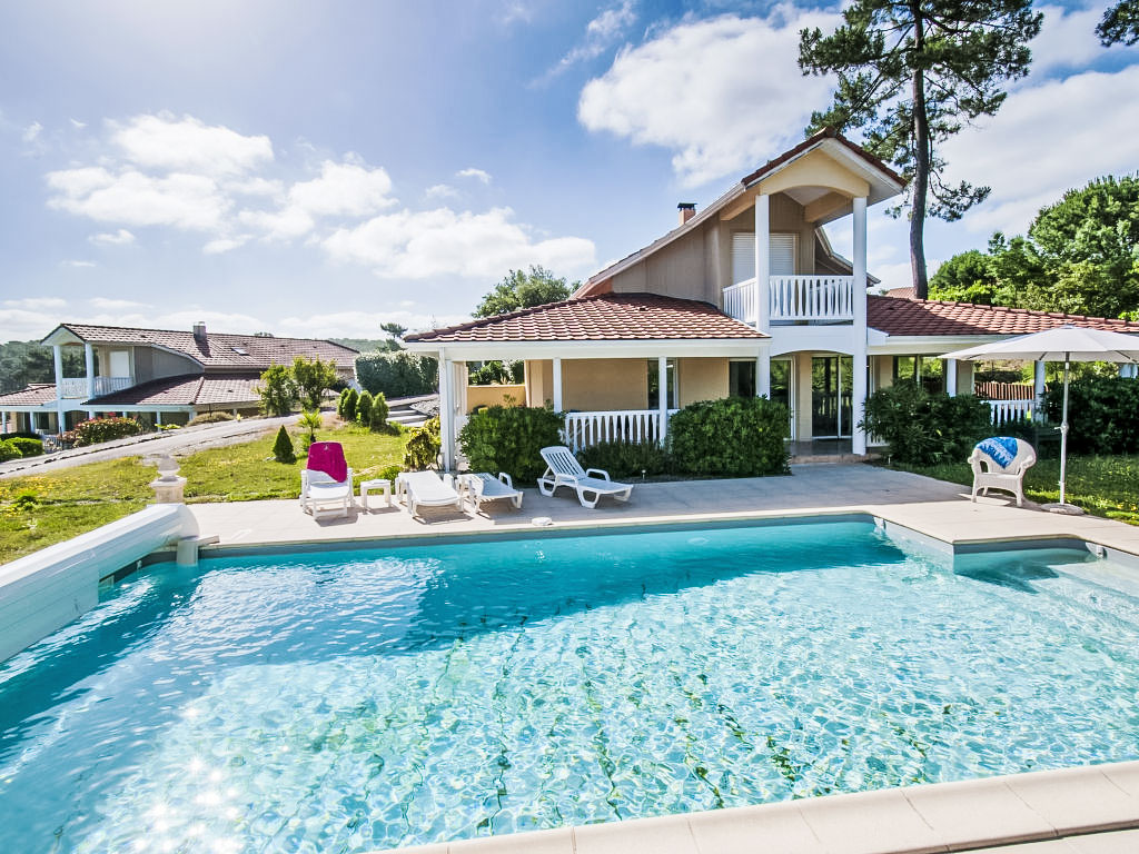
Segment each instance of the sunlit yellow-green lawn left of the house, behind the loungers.
M317 437L344 445L359 483L399 466L408 434L339 427L320 430ZM297 498L304 459L276 462L273 438L271 434L181 458L187 503ZM132 457L0 481L0 564L141 509L154 496L147 484L156 475L154 466Z

